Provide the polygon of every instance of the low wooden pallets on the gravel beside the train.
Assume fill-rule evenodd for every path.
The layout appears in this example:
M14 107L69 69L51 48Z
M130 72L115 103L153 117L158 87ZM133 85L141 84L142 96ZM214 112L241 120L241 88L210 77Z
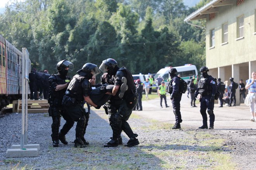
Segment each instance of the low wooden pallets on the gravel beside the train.
M47 113L48 108L47 100L28 100L28 113ZM22 100L12 101L12 112L22 112Z

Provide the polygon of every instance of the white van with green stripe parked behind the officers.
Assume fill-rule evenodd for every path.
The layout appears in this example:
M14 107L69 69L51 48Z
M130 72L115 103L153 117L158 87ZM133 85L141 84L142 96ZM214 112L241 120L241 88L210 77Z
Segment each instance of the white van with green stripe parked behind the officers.
M163 78L164 82L169 82L169 70L172 67L165 67L162 68L161 70L159 70L156 75L154 76L155 80L158 78L158 76L160 75L161 78ZM195 65L191 65L191 64L186 64L184 66L177 66L174 67L176 68L176 70L178 71L176 74L180 75L180 77L185 80L186 82L188 82L189 77L192 77L193 75L195 75L195 78L197 78L198 73L197 73L197 69Z

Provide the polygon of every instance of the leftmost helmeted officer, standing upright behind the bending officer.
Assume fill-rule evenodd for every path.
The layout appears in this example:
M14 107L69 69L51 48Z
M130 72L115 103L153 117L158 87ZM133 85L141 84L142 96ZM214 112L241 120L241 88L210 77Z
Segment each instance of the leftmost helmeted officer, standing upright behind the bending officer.
M67 59L64 59L57 63L57 71L58 74L51 75L48 79L50 84L50 93L48 98L49 107L49 116L52 117L52 145L54 147L59 146L59 140L65 145L67 145L67 141L65 135L67 132L73 127L74 121L69 119L69 114L66 110L63 109L61 105L61 101L67 89L67 86L70 82L70 78L67 76L68 70L73 70L74 65ZM63 128L59 133L59 126L61 123L61 116L66 120Z

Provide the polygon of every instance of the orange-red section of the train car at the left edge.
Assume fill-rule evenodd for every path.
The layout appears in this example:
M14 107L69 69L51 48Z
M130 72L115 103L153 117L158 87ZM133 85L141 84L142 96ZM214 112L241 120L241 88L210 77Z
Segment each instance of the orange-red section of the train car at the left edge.
M6 51L5 39L0 36L0 94L6 94Z

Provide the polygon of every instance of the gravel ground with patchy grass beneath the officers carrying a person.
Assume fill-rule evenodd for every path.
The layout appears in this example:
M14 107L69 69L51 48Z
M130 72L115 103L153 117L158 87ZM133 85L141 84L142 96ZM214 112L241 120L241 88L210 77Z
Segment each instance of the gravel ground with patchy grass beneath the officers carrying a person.
M87 148L74 148L76 124L66 135L68 145L53 148L51 117L28 117L28 143L40 145L38 156L5 157L7 149L20 144L21 137L21 114L8 114L0 118L0 169L256 169L255 130L171 130L172 124L146 119L135 112L128 122L139 134L140 145L103 148L111 128L104 111L95 110L85 135L90 143ZM122 136L123 143L127 143L127 136Z

